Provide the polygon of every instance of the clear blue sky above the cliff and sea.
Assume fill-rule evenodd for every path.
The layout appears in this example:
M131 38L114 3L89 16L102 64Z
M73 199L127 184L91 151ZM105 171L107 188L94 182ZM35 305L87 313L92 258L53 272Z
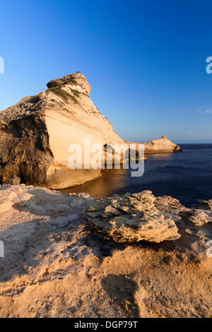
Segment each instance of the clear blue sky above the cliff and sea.
M0 109L81 71L124 139L212 142L212 1L1 1Z

